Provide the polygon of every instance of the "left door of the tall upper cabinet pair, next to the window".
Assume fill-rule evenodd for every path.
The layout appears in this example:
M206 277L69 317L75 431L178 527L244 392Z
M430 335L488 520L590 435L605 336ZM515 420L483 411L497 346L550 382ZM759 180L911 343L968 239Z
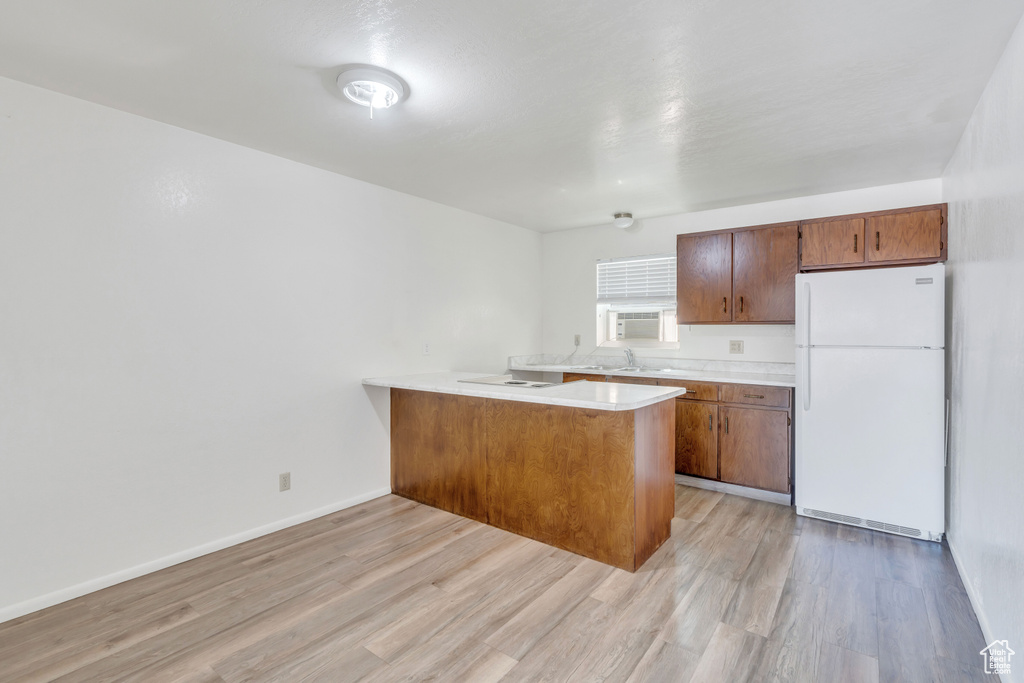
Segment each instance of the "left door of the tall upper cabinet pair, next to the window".
M676 238L676 322L732 321L732 234Z

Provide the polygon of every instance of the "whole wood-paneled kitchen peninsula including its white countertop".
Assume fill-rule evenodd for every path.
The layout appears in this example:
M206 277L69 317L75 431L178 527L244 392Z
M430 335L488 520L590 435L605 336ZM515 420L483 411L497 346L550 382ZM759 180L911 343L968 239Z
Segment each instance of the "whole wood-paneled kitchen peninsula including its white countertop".
M677 387L364 380L391 390L391 489L636 571L670 535Z

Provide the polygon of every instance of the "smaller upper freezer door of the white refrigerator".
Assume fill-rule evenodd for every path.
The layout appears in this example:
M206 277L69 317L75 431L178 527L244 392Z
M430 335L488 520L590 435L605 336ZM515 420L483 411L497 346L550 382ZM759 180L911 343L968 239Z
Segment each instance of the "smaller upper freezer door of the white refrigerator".
M800 346L945 345L945 265L797 275Z

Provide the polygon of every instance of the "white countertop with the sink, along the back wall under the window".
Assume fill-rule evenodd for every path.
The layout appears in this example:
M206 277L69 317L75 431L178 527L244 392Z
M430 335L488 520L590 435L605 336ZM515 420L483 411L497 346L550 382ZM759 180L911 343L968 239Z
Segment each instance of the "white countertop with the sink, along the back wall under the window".
M787 369L791 364L754 364L754 362L728 362L728 361L707 361L701 365L712 366L706 368L671 368L668 371L653 370L650 372L615 372L622 366L608 366L600 370L585 370L580 366L602 365L609 358L600 357L601 362L587 362L593 360L595 356L583 357L577 362L551 362L543 357L537 356L512 356L509 358L509 370L530 371L547 373L578 373L581 375L613 375L615 377L645 377L652 379L667 380L693 380L695 382L724 382L726 384L760 384L762 386L797 386L795 374L779 372ZM644 358L638 358L638 365ZM690 361L693 362L693 361ZM721 366L721 367L715 367ZM750 366L761 367L763 372L755 371ZM736 368L733 370L732 368Z

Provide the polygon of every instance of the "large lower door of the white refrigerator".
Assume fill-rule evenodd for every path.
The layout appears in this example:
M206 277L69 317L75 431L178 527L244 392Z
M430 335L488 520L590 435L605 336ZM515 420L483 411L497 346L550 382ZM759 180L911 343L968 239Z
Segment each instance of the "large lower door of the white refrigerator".
M799 350L798 507L944 530L943 354Z

